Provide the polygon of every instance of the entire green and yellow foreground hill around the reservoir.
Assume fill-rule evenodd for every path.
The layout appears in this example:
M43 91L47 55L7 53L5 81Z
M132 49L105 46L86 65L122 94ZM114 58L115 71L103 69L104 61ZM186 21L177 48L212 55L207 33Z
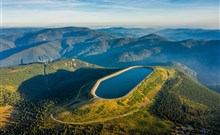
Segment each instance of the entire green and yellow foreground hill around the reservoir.
M97 79L120 69L101 68L77 59L1 68L4 97L0 98L0 105L8 128L3 126L0 133L219 132L218 93L180 71L169 67L153 68L154 72L132 93L115 100L93 98L90 89ZM51 114L59 121L54 121ZM74 124L75 121L97 122L79 125Z

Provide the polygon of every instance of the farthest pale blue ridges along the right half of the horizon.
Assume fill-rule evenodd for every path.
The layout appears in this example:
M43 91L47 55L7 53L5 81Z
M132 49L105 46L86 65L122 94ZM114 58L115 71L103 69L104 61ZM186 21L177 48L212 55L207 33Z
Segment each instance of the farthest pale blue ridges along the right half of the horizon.
M187 40L187 39L220 39L220 30L208 29L152 29L152 28L123 28L113 27L98 29L100 32L110 33L119 37L141 37L148 34L158 34L169 40Z

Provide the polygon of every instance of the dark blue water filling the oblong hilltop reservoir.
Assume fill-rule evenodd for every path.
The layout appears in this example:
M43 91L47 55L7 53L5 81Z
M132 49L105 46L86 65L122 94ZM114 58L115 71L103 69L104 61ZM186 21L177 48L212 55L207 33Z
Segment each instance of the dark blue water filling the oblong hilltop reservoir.
M123 97L152 71L153 69L144 67L130 69L124 73L102 81L95 94L101 98L107 99Z

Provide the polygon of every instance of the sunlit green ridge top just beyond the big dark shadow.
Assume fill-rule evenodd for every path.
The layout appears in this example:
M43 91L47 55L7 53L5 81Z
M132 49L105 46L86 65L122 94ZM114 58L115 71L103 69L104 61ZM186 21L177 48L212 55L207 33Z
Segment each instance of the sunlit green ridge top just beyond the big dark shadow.
M72 63L76 63L76 67L73 67ZM74 71L81 67L95 67L94 65L88 64L80 60L72 61L70 59L55 61L53 63L49 63L47 66L47 74L54 73L59 69ZM24 81L31 79L32 77L37 75L43 75L44 64L36 63L23 66L0 68L0 73L2 73L0 88L10 91L16 91Z

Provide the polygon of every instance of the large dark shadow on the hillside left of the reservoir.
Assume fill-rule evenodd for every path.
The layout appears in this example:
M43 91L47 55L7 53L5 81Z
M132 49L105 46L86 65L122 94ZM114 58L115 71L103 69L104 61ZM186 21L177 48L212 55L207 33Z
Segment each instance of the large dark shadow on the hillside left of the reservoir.
M37 75L24 81L18 88L23 97L32 100L73 98L86 83L117 71L116 69L80 68L74 72L64 69L47 75Z

